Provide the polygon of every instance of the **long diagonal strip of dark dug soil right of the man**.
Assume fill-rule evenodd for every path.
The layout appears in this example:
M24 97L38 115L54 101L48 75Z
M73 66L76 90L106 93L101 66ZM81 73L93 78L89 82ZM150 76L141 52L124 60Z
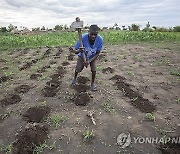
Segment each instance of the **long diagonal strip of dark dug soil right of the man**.
M150 102L148 99L144 99L141 94L138 91L134 91L129 83L126 83L124 81L124 77L118 77L114 76L110 80L114 80L115 78L115 86L123 92L125 96L127 96L131 104L138 108L141 112L148 113L148 112L153 112L156 110L156 106Z

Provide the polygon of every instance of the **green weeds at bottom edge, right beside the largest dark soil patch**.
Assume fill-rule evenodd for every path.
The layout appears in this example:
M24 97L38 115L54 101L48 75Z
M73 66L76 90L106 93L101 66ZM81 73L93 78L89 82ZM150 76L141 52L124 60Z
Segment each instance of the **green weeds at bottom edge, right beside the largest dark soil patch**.
M44 142L43 144L41 144L39 146L35 145L35 148L33 150L33 154L41 154L44 152L45 149L53 150L55 148L56 148L55 142L51 145L47 145L47 143Z

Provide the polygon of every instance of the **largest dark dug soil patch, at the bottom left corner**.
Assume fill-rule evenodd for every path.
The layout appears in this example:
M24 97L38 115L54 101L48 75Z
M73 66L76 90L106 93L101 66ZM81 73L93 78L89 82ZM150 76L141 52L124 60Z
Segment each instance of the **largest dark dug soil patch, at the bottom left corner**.
M13 143L13 154L33 154L36 146L42 145L48 137L48 127L39 123L28 123L18 133Z

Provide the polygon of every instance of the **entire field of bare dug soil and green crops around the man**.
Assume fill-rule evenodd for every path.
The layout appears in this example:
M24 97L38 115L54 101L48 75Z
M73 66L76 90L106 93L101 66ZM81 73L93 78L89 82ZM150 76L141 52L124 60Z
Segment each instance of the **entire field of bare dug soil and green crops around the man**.
M96 92L89 67L70 85L77 33L0 35L0 153L180 153L180 34L100 35Z

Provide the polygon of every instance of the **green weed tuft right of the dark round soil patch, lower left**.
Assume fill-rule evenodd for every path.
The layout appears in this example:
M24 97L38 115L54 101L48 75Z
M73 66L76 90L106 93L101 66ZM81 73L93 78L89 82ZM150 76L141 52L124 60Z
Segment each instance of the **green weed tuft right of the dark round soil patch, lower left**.
M67 118L64 116L61 116L60 114L51 115L47 118L47 122L49 124L52 124L55 126L55 128L58 128L61 126L61 123L66 121Z

